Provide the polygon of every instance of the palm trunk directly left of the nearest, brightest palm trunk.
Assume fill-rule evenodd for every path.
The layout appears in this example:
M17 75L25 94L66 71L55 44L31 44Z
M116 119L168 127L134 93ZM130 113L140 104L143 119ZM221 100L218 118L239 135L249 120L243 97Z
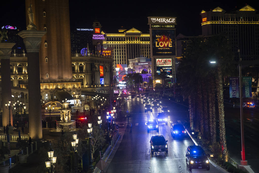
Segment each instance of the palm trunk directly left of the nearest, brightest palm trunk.
M209 119L210 119L210 140L211 143L216 142L216 114L215 114L215 80L214 77L209 78L209 85L210 88L209 96L208 96L208 103L209 103Z

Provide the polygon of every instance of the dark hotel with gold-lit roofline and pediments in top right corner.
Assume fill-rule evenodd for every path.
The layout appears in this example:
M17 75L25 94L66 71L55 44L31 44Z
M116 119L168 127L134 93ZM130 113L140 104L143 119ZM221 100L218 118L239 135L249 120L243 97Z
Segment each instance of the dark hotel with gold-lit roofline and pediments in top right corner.
M235 60L259 59L259 14L253 7L246 5L232 11L217 7L210 11L202 10L202 34L211 36L224 32L228 37Z

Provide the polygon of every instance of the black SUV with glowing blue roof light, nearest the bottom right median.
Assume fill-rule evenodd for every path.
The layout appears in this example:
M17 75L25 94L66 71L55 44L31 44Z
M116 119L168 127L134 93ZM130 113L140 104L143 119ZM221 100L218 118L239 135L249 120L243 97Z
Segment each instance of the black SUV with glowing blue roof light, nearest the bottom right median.
M210 162L205 155L204 150L200 146L188 146L186 149L186 164L189 170L192 169L207 169L210 170Z

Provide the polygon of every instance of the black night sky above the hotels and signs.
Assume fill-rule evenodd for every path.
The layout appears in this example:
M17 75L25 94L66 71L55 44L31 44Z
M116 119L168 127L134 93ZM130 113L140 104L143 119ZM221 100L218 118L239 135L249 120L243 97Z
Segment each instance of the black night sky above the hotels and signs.
M16 2L16 3L15 3ZM116 2L116 3L114 3ZM148 16L169 16L176 19L176 36L179 33L185 36L198 36L202 34L202 10L208 11L220 7L231 11L245 6L246 3L259 10L256 1L69 1L71 30L76 28L90 28L93 21L101 23L102 30L107 33L117 33L123 26L127 30L134 27L142 33L148 33ZM27 8L25 2L1 2L0 26L11 25L26 29L25 15ZM258 12L257 12L258 13Z

